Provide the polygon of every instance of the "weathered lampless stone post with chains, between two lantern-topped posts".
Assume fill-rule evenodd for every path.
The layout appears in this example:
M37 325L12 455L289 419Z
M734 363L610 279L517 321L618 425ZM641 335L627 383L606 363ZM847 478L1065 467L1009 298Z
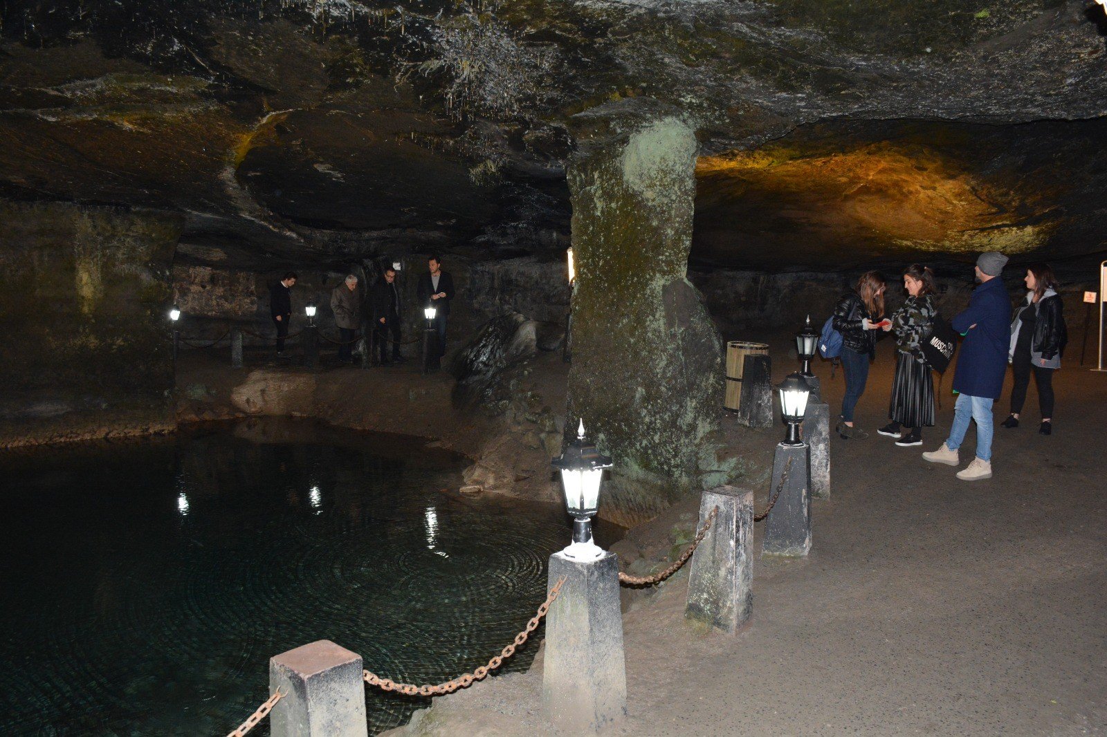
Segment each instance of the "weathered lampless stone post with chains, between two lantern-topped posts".
M684 616L735 634L753 613L754 492L733 486L704 491L696 529L715 507L715 521L692 554Z

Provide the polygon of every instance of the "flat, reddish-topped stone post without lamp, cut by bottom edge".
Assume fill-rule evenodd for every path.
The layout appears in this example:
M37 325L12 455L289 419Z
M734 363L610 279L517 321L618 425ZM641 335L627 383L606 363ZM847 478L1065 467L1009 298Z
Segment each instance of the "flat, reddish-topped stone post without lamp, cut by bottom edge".
M269 660L269 693L284 697L269 714L272 737L365 737L361 655L320 640Z

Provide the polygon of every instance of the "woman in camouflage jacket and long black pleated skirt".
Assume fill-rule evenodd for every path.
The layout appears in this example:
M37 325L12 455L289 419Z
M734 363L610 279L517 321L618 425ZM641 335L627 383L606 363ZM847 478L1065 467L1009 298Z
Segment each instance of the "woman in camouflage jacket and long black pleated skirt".
M896 445L922 445L922 428L934 425L934 378L922 354L922 344L930 338L934 315L934 272L912 263L903 272L907 300L892 314L884 330L896 333L896 377L888 404L891 421L877 432L898 438ZM907 429L907 433L903 430Z

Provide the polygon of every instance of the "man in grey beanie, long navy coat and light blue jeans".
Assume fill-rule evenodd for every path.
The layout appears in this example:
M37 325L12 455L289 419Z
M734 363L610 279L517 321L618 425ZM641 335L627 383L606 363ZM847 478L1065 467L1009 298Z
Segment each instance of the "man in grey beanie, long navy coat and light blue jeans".
M992 478L992 403L1003 393L1011 342L1011 295L1000 278L1006 262L1007 257L995 251L976 259L976 279L981 283L973 290L969 308L950 321L953 330L965 336L953 373L953 391L959 394L953 426L941 448L922 454L932 463L956 466L958 448L970 421L975 419L976 457L958 473L963 481Z

